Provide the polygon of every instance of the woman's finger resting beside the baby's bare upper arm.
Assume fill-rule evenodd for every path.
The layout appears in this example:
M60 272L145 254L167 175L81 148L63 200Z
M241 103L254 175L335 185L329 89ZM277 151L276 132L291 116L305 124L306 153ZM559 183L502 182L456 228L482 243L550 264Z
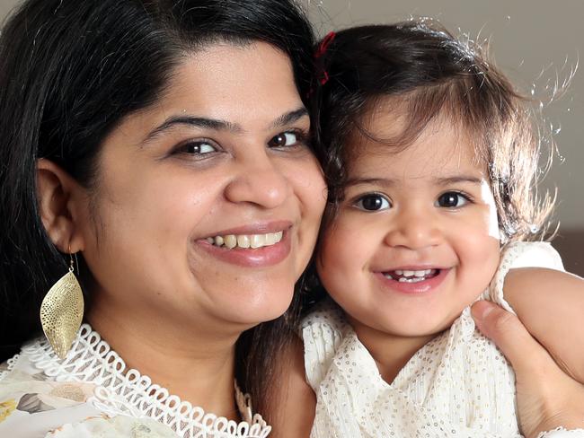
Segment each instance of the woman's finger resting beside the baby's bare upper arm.
M479 330L499 346L516 372L539 372L552 360L518 317L492 302L475 302L471 309Z

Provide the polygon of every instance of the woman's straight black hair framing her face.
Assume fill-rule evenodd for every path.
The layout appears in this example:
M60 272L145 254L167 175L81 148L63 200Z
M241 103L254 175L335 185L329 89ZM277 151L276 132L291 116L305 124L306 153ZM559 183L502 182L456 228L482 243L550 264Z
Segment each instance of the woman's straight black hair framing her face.
M294 0L28 0L5 22L0 359L40 332L40 302L67 269L40 221L37 160L56 162L91 192L104 138L155 103L185 54L217 41L279 48L308 106L314 36ZM261 324L238 341L237 378L257 407L267 402L271 359L285 343L288 320Z

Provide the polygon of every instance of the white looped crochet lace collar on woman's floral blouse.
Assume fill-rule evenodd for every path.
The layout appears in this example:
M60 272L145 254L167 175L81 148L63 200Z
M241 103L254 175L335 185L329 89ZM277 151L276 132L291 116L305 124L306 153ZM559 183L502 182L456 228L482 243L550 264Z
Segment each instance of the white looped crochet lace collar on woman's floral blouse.
M271 427L259 414L253 415L249 395L235 384L235 401L243 422L205 413L188 401L169 393L146 375L128 369L89 324L84 324L65 359L59 359L49 342L39 338L22 347L49 379L54 381L84 381L95 383L93 397L88 401L111 416L126 415L153 418L168 425L184 438L265 438Z

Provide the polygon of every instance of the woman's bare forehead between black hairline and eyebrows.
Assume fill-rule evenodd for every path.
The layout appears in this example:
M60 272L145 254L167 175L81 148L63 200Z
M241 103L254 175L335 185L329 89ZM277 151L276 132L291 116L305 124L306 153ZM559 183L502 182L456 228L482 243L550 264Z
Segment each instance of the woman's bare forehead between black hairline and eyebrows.
M304 105L286 54L263 42L217 43L185 56L160 99L127 121L201 118L210 127L243 132L270 127L300 109Z

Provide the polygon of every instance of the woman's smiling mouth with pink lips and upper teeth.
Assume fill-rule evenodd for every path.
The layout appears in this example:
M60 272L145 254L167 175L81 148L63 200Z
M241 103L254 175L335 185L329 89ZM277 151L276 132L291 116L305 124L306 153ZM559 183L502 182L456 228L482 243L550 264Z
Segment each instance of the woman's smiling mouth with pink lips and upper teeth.
M253 230L249 228L229 230L226 234L222 235L225 238L227 236L233 236L228 242L222 241L225 240L222 237L218 242L217 238L208 238L196 241L196 244L212 257L232 265L241 267L270 267L277 265L287 258L291 248L291 226L288 224L285 230L282 230L280 227L279 232L275 231L277 228L274 226L261 226ZM245 233L234 232L240 230L245 231ZM265 230L274 230L275 232L258 232ZM258 239L257 236L259 235L267 237L262 241ZM234 244L233 240L236 241L236 244ZM252 246L256 246L253 244L254 241L256 243L261 242L261 247L252 248ZM249 248L242 248L248 245Z

